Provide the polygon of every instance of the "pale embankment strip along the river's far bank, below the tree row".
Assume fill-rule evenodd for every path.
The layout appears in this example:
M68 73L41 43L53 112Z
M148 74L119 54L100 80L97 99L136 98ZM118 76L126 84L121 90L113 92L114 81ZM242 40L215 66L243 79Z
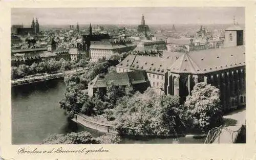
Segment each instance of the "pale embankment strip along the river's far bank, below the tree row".
M67 73L79 72L82 70L83 70L83 68L79 67L79 68L76 68L75 70L70 70L70 71L56 71L54 74L45 73L44 75L36 74L36 75L26 76L25 78L12 79L11 85L19 86L19 85L31 84L31 83L35 83L35 82L41 82L41 81L62 78L62 77L65 77L65 75Z

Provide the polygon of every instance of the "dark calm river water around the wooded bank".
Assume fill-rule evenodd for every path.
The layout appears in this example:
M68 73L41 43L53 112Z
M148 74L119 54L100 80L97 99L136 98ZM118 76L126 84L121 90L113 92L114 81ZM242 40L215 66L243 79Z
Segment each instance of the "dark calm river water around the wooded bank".
M65 93L63 79L12 87L12 144L40 144L53 133L89 131L103 133L69 121L59 101ZM179 138L180 143L204 143L204 139ZM173 139L131 140L122 143L172 143Z

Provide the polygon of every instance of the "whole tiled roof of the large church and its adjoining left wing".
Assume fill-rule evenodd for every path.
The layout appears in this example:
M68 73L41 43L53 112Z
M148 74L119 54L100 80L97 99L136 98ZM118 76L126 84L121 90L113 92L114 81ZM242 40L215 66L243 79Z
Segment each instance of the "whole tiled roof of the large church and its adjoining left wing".
M129 55L117 66L158 74L163 74L167 70L173 73L204 74L245 65L243 45L179 54L172 52L171 54L177 58Z

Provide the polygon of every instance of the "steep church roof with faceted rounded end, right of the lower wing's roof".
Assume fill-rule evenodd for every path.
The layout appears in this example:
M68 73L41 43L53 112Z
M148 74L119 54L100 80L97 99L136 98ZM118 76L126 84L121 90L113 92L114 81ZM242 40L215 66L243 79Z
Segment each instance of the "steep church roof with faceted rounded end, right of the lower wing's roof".
M245 65L243 45L185 53L172 66L174 73L203 74Z

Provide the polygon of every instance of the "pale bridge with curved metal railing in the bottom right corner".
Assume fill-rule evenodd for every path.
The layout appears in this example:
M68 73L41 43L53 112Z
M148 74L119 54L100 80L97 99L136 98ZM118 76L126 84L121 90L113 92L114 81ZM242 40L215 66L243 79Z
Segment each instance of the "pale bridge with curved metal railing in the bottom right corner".
M212 128L207 135L205 143L236 143L239 134L245 131L245 108L233 111L224 116L224 124Z

